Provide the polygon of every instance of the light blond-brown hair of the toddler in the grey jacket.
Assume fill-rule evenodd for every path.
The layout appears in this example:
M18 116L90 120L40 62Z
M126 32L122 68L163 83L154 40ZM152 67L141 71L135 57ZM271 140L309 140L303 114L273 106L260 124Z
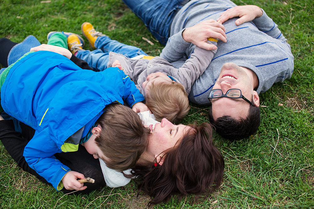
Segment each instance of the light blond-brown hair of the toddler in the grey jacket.
M171 123L181 121L189 112L189 100L184 87L177 82L152 82L145 95L146 106L157 121L166 118Z

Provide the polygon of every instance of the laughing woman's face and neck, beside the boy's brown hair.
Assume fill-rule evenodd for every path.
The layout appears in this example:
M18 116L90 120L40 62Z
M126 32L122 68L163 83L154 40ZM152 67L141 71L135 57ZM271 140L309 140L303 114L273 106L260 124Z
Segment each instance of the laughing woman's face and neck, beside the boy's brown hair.
M163 152L174 147L177 141L181 139L191 127L183 124L174 125L164 118L161 120L161 123L150 125L149 128L151 133L149 136L149 145L141 158L148 164L153 164L156 158L157 162L162 164L163 160L161 163L160 160L162 159Z

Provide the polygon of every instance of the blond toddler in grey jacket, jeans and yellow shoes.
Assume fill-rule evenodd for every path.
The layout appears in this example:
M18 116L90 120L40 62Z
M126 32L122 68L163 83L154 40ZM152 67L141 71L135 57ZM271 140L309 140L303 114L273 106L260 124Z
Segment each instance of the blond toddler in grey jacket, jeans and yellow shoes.
M71 52L97 71L120 66L120 70L134 81L144 95L147 107L158 121L167 118L170 122L177 123L186 116L190 109L187 95L216 52L212 50L212 53L208 53L207 50L195 47L185 64L175 68L162 57L151 57L137 47L111 40L96 31L90 23L83 23L81 30L90 46L97 49L83 50L82 38L71 34L68 36ZM217 45L215 41L210 42Z

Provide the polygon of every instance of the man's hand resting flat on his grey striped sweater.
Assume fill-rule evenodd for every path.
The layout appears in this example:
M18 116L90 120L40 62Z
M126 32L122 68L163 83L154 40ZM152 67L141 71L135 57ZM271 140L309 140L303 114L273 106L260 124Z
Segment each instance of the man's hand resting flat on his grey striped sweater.
M227 9L218 18L218 22L224 23L230 18L239 17L236 20L236 25L250 22L255 18L259 18L263 15L263 10L255 5L236 6Z

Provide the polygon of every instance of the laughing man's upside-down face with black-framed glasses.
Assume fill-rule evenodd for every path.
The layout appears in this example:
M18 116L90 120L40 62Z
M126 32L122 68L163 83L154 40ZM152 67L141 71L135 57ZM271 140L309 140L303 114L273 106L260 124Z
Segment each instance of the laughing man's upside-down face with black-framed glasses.
M221 89L225 94L229 89L240 89L242 95L252 102L252 97L255 105L259 105L259 97L256 91L253 91L253 86L249 76L246 74L244 67L240 67L235 63L225 63L220 71L219 77L213 86L213 89ZM257 101L258 99L258 101ZM246 118L250 104L244 99L231 99L221 97L212 99L213 118L216 120L224 115L229 115L232 118ZM253 103L253 102L252 102Z

